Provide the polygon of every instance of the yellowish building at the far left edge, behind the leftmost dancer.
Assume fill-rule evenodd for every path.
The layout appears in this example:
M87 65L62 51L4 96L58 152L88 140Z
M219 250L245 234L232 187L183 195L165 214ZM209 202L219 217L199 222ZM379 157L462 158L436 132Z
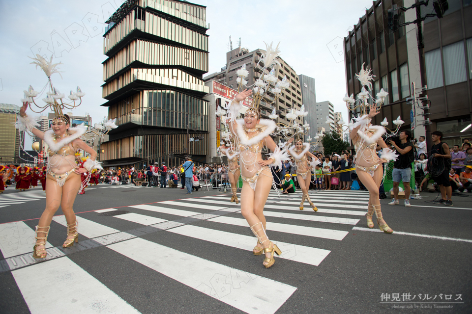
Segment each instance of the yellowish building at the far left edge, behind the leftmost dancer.
M19 164L20 140L24 141L25 132L15 129L16 115L20 112L17 105L0 104L0 164ZM26 147L29 149L29 147Z

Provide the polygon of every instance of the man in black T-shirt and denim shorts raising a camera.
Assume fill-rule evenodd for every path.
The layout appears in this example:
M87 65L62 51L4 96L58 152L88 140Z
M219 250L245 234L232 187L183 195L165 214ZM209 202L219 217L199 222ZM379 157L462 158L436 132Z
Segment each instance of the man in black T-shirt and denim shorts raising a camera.
M410 142L412 136L411 131L401 131L398 141L390 140L390 144L400 155L393 164L393 199L388 205L398 205L398 185L403 182L405 190L405 207L410 205L410 180L412 178L412 162L414 160L414 146Z

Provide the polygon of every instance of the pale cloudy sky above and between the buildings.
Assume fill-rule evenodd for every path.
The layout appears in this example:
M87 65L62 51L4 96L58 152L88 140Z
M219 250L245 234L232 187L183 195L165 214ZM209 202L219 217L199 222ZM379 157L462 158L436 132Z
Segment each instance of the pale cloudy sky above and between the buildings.
M342 40L372 6L372 0L190 1L207 6L208 74L226 64L229 36L249 51L280 42L280 56L300 75L315 78L316 99L330 101L346 121L346 78ZM89 113L92 123L108 116L102 98L103 33L122 0L0 0L0 103L21 105L29 85L39 91L46 75L29 64L35 53L62 62L54 86L66 95L77 86L86 93L73 115ZM34 54L33 54L34 53ZM207 74L206 74L207 75ZM205 76L206 76L205 75ZM43 105L42 97L37 103ZM70 110L64 110L69 112Z

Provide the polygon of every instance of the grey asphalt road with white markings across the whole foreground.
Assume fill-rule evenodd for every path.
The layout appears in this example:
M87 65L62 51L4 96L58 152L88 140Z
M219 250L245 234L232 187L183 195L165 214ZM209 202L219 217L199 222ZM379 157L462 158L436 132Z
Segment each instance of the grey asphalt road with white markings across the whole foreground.
M472 193L453 197L451 208L428 203L436 193L421 193L411 208L381 200L394 230L387 235L367 228L366 192L311 191L314 212L308 203L298 209L298 192L272 191L267 234L283 258L268 269L228 195L184 193L89 188L74 205L80 245L61 248L59 209L54 248L33 262L45 195L8 188L0 195L0 312L472 313Z

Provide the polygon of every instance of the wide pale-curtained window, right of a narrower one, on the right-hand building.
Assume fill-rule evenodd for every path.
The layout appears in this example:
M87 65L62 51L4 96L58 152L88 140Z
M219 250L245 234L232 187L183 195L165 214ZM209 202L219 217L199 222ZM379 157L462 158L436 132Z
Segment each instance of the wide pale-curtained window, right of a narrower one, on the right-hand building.
M444 46L442 47L442 53L446 85L464 82L467 79L464 42L460 41Z

